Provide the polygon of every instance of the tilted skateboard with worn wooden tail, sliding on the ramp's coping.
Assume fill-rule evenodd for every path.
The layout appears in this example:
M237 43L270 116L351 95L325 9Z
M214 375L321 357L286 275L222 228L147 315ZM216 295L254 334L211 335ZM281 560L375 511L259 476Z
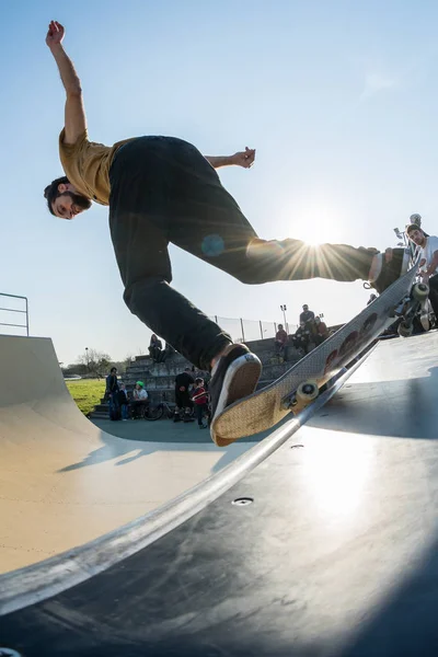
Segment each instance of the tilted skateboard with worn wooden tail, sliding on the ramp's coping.
M394 323L394 319L403 318L402 324L405 322L405 330L402 328L400 335L411 335L413 319L427 296L422 287L424 284L415 283L417 269L418 261L350 322L276 381L227 406L211 423L214 442L224 447L239 438L270 429L290 412L297 415L318 397L327 381Z

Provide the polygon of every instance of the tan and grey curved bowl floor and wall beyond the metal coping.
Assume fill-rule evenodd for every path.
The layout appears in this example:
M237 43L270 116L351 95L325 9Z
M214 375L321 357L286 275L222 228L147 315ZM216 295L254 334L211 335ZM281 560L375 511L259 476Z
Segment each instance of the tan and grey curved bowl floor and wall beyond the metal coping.
M71 399L48 338L0 336L0 573L119 528L252 446L223 459L212 443L101 431ZM153 424L145 430L153 435Z

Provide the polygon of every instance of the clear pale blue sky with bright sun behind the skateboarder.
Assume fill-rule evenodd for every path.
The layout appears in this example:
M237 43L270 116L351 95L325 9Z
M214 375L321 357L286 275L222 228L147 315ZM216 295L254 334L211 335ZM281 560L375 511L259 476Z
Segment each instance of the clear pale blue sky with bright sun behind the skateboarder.
M65 101L50 19L66 26L91 139L257 149L252 170L220 175L261 237L385 247L412 212L437 234L437 3L2 2L0 291L28 297L32 334L53 337L64 362L85 346L145 351L150 331L123 302L107 209L67 222L44 205L61 174ZM308 302L336 323L369 296L360 283L245 287L175 247L171 257L173 285L207 314L278 322L287 303L296 322Z

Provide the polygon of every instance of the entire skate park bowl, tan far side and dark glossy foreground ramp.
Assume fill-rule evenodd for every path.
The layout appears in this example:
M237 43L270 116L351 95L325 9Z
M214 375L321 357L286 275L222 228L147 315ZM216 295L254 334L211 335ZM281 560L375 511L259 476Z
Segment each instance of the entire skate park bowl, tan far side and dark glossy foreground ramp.
M312 412L214 474L223 450L205 470L181 445L158 456L158 477L174 480L162 499L141 487L161 452L137 458L142 445L88 423L49 339L1 344L2 647L436 655L438 333L380 343Z

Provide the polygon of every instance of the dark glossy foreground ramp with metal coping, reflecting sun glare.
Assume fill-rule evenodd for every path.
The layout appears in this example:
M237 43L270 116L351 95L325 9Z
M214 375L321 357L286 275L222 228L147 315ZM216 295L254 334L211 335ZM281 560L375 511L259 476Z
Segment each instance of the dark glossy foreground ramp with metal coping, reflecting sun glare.
M381 343L161 531L162 509L0 576L4 654L436 657L437 353Z

